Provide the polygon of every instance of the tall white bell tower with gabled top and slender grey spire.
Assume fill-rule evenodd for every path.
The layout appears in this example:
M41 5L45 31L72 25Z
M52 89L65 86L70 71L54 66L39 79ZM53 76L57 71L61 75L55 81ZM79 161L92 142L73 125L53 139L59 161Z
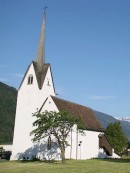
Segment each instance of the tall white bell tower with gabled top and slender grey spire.
M41 108L47 97L55 96L51 66L45 63L45 27L46 7L36 60L28 66L18 90L11 160L35 155L30 136L34 122L32 114Z

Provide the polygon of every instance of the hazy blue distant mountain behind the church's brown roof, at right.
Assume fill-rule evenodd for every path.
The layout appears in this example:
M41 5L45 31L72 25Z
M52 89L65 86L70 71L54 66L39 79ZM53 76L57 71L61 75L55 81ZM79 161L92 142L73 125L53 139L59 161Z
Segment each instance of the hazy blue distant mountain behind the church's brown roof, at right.
M98 119L98 121L101 123L103 128L106 128L108 126L108 124L110 124L110 123L120 122L120 125L121 125L126 137L130 141L130 122L129 121L116 119L116 118L112 117L111 115L107 115L107 114L104 114L102 112L98 112L95 110L93 110L93 112L94 112L96 118Z

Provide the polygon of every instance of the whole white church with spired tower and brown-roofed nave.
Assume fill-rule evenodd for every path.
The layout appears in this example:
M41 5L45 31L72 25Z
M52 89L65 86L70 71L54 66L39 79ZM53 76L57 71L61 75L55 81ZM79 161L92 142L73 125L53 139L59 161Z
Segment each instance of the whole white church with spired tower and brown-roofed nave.
M104 135L104 129L92 109L56 96L51 65L45 63L45 26L46 12L43 16L36 59L28 66L18 90L11 160L31 159L34 156L40 159L61 160L55 139L51 141L49 150L48 139L32 142L32 114L37 110L68 110L85 122L87 128L84 135L78 132L75 125L68 136L69 146L65 153L67 159L119 158Z

